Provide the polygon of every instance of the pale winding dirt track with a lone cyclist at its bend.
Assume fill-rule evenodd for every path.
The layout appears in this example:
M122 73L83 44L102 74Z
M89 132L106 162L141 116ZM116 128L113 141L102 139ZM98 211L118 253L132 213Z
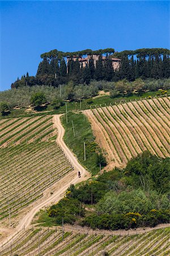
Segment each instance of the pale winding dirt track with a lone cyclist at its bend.
M67 183L61 189L56 191L56 193L53 193L53 195L50 196L49 199L42 201L40 204L36 205L36 207L31 209L20 221L19 225L16 226L16 228L14 229L14 232L12 232L10 236L8 236L7 238L5 238L5 240L2 241L3 244L5 244L7 241L10 241L11 239L15 239L18 236L19 232L23 230L23 228L24 229L28 228L28 226L31 224L33 217L37 212L39 212L41 208L47 207L48 205L50 205L50 203L57 203L63 197L63 193L70 186L70 184L79 183L80 181L86 180L88 179L88 177L90 177L90 174L86 171L84 167L82 167L78 163L78 160L74 156L73 152L71 152L69 148L66 146L65 142L63 142L63 135L65 134L65 129L61 125L61 121L59 119L60 117L61 115L54 115L54 118L53 118L55 122L54 125L56 125L58 130L58 137L56 142L59 144L59 146L62 147L63 152L72 163L75 170L75 177L72 180L67 180ZM76 175L78 171L80 171L81 173L81 178L79 178L78 175Z

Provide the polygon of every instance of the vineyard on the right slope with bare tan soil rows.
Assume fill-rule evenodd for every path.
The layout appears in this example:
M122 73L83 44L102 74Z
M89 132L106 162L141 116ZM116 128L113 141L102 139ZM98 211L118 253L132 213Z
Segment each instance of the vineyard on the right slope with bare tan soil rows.
M164 97L84 110L84 114L108 163L112 168L124 167L145 150L161 158L170 155L169 106L169 97Z

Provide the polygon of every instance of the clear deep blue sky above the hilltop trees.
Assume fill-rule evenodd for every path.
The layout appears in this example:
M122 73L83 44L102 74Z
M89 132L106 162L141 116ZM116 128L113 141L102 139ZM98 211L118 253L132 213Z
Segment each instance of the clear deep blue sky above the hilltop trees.
M169 48L169 1L1 1L1 90L58 49Z

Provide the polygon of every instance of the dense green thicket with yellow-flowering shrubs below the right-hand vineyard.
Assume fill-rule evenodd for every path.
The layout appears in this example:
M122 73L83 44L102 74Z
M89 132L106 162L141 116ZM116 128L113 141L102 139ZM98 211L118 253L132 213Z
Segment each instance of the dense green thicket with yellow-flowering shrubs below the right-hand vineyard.
M170 159L160 159L146 151L131 159L124 170L104 172L78 188L71 185L65 197L67 207L72 209L72 200L77 200L75 216L78 205L86 207L81 209L80 220L75 216L74 221L70 218L71 224L77 221L93 229L129 229L168 222L169 174ZM60 208L60 204L56 207ZM62 207L65 203L60 210ZM53 207L48 210L49 216L52 212ZM61 215L53 217L58 221L59 216L61 219Z

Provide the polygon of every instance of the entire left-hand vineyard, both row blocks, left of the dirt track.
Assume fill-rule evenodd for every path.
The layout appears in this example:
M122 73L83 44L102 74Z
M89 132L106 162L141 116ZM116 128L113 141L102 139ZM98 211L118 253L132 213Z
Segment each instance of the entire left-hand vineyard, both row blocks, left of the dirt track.
M24 125L24 126L23 126ZM15 216L73 170L53 142L52 117L1 121L0 220Z

